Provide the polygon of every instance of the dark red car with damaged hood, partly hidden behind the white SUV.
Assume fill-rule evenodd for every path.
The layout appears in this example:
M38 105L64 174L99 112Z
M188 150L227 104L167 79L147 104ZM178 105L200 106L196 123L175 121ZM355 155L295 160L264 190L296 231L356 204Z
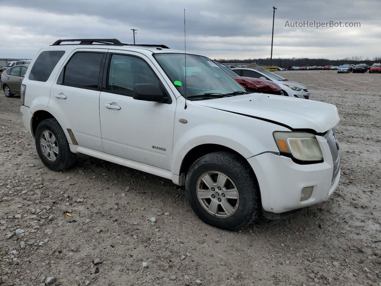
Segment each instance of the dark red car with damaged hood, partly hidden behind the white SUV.
M280 86L275 84L267 79L255 79L253 77L240 77L234 71L229 69L229 67L224 66L218 62L215 62L221 67L224 71L226 71L229 76L234 78L243 88L245 88L248 92L261 92L261 93L270 93L275 95L283 95L280 90Z

